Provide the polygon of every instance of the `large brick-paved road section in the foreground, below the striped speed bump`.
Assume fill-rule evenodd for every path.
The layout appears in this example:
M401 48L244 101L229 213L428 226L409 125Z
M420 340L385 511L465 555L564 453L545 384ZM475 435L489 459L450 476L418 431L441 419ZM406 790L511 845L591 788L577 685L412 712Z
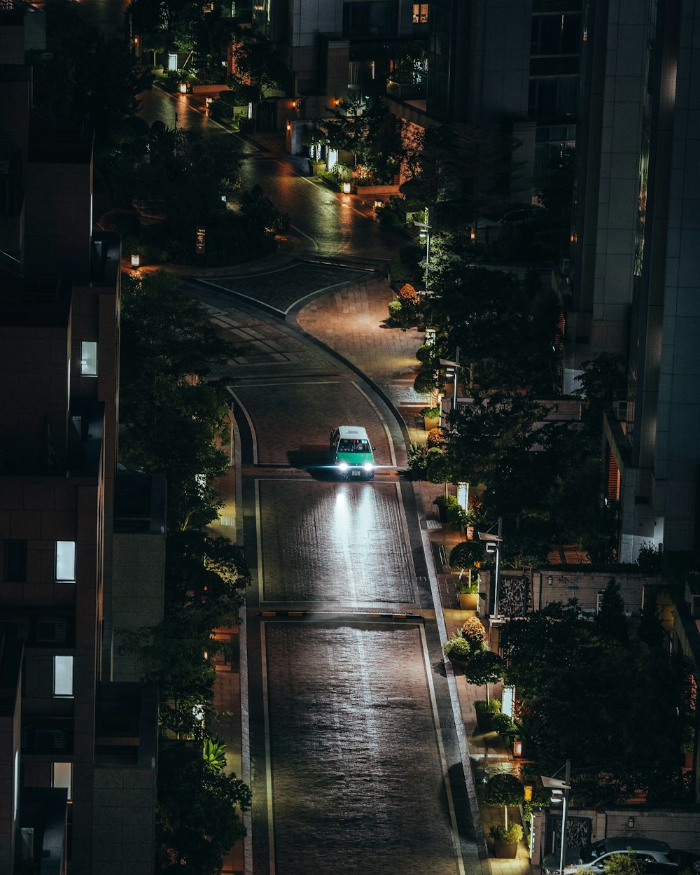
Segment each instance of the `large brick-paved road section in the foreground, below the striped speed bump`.
M276 872L456 875L418 628L266 641Z

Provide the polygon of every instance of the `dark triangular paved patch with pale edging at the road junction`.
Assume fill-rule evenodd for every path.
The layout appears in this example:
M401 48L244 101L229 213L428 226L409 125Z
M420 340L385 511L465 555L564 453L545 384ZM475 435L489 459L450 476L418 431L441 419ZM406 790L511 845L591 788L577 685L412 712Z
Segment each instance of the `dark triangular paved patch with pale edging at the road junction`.
M357 282L367 271L333 267L326 264L297 262L265 274L220 276L207 282L220 289L234 291L269 304L284 312L299 298L336 283Z

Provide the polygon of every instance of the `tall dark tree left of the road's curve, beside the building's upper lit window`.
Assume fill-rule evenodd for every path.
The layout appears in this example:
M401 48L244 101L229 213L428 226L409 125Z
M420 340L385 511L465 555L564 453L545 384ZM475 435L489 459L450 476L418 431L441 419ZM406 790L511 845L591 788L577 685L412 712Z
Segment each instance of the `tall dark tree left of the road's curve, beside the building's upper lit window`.
M158 271L123 283L120 452L133 467L167 474L171 530L216 516L212 481L228 470L228 457L215 442L228 393L207 377L235 354L174 276Z

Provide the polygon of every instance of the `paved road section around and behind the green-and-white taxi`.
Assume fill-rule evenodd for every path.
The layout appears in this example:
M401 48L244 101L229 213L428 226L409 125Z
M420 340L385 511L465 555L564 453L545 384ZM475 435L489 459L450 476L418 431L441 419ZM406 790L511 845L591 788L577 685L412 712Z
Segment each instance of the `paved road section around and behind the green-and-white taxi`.
M255 423L262 465L325 465L336 425L364 425L377 465L390 465L386 432L353 383L269 383L232 387Z

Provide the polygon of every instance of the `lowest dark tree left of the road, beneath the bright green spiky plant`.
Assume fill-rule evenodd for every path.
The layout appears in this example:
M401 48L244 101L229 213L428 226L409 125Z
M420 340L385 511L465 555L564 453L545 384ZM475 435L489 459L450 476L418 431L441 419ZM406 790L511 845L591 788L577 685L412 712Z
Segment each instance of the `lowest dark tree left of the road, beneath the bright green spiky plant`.
M193 875L221 872L224 855L245 836L241 813L250 802L243 781L207 768L200 746L163 744L158 755L158 871L181 872L186 866Z

